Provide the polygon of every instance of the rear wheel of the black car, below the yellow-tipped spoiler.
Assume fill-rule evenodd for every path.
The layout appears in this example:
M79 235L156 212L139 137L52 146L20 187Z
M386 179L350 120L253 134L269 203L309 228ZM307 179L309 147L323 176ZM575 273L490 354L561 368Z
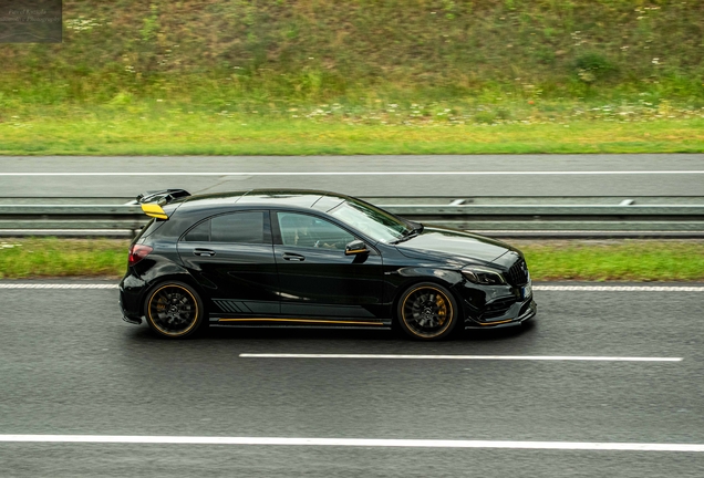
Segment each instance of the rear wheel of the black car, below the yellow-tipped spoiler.
M152 331L167 339L193 337L207 325L203 300L183 282L169 281L155 287L146 298L144 312Z

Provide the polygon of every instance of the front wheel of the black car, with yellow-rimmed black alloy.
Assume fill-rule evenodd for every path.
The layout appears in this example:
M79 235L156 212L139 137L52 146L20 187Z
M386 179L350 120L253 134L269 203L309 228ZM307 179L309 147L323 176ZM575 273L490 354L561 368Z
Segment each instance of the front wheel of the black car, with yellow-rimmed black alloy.
M452 292L444 287L435 282L420 282L401 294L396 319L411 339L443 340L457 325L459 306Z

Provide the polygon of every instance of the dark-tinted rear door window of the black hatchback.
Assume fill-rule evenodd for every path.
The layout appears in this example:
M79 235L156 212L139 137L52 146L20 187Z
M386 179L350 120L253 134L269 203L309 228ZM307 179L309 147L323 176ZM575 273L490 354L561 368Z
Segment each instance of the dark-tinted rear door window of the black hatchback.
M184 237L194 242L269 243L265 238L265 212L247 211L215 216Z

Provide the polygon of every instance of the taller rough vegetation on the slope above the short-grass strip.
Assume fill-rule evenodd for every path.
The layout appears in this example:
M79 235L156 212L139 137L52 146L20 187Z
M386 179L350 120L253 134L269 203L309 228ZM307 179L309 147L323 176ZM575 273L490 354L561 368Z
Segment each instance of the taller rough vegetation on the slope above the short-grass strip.
M0 46L0 121L701 118L702 18L669 0L65 0L63 43Z

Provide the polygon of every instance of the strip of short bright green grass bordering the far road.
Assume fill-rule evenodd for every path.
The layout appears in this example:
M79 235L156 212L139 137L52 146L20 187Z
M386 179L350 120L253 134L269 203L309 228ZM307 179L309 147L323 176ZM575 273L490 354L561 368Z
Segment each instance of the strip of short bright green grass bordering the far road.
M188 114L15 118L0 124L4 155L324 155L701 153L704 118L538 118L477 124L379 114L282 118Z

